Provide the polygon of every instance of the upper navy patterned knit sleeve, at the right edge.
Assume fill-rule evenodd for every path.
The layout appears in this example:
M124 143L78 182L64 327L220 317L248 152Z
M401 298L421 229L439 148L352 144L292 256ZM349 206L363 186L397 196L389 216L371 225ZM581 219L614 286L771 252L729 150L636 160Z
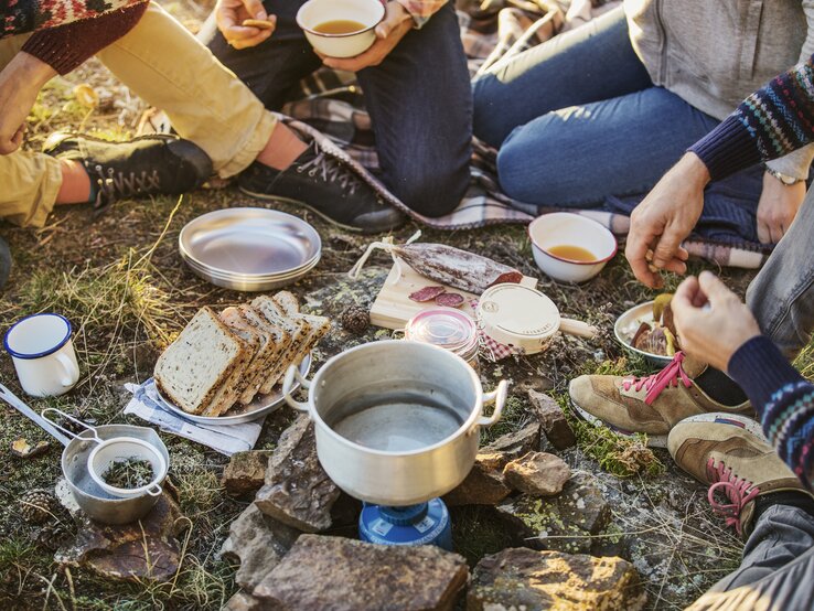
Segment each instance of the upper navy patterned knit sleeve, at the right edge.
M754 92L689 148L720 180L814 141L814 56Z

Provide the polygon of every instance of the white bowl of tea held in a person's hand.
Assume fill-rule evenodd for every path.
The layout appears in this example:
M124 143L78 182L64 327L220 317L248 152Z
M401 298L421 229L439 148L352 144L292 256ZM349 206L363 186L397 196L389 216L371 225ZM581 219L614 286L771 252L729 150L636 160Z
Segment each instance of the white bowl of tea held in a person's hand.
M297 11L297 24L314 51L329 57L355 57L376 41L374 28L384 15L384 4L378 0L309 0ZM324 34L315 30L321 23L338 20L356 21L364 29L347 34Z

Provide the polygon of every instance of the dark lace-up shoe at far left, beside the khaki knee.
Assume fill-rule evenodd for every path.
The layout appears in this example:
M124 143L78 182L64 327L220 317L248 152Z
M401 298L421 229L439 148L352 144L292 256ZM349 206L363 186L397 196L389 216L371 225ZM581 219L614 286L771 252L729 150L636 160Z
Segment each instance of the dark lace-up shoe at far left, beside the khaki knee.
M141 136L108 142L89 136L55 132L43 152L82 163L101 212L117 200L179 195L194 191L212 174L212 160L196 144L175 136Z

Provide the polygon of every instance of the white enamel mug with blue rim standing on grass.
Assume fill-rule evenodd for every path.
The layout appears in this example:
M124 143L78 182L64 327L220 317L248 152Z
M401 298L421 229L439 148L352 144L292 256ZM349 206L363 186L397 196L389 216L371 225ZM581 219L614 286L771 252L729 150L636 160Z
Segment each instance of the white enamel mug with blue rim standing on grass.
M60 314L33 314L6 332L3 345L11 355L23 390L34 397L64 395L79 379L71 323Z

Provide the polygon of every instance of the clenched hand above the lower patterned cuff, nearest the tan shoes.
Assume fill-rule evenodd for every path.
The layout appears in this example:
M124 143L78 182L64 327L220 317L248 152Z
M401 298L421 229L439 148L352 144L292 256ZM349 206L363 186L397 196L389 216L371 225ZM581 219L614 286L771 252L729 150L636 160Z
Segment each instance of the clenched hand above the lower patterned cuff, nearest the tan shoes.
M749 308L710 271L684 280L670 307L682 350L721 372L740 346L760 335Z

